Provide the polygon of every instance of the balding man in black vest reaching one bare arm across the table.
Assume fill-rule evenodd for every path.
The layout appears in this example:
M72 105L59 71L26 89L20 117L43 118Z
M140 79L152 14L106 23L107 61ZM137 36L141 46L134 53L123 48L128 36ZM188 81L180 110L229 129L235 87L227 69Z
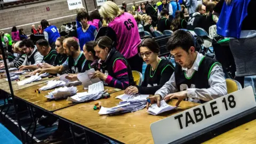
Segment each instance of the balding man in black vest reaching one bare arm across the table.
M85 62L83 52L79 50L79 45L73 37L68 37L63 41L64 53L68 55L67 60L61 65L51 68L37 69L33 73L59 74L62 71L71 69L71 73L78 74L82 71L82 65Z

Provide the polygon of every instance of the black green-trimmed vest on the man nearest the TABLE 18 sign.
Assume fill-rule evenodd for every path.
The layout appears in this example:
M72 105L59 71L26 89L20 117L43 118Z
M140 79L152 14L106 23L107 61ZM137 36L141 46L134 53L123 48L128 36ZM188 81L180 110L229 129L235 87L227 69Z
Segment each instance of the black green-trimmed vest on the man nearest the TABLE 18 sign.
M174 76L178 91L185 91L189 88L208 89L210 87L208 80L211 70L217 63L220 64L217 60L204 57L199 63L198 71L195 71L191 77L187 77L185 71L183 71L182 67L177 63ZM201 103L205 102L203 100L200 101Z

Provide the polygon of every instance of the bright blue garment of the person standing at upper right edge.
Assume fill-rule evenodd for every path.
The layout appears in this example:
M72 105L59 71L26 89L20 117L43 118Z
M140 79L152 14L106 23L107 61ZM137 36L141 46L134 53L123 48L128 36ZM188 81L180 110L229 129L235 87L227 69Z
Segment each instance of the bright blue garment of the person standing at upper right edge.
M233 0L223 4L217 23L217 34L224 37L240 38L242 22L247 16L250 0Z

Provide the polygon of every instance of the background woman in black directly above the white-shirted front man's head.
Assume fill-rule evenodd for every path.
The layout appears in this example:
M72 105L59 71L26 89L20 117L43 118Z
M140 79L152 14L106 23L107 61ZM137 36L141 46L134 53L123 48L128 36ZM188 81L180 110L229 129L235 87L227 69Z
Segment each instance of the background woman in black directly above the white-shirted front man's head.
M175 18L172 20L171 30L175 31L182 28L187 28L187 21L185 20L184 14L181 11L175 12Z

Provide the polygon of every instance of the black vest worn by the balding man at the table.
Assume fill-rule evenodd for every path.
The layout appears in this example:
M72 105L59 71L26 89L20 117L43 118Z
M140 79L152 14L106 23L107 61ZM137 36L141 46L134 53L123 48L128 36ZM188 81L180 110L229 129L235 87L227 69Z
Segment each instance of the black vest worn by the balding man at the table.
M82 52L80 53L78 60L76 62L74 61L73 57L69 56L68 57L68 67L69 67L69 69L71 69L71 73L72 74L81 73L82 65L83 65L84 61L85 61L85 57Z

